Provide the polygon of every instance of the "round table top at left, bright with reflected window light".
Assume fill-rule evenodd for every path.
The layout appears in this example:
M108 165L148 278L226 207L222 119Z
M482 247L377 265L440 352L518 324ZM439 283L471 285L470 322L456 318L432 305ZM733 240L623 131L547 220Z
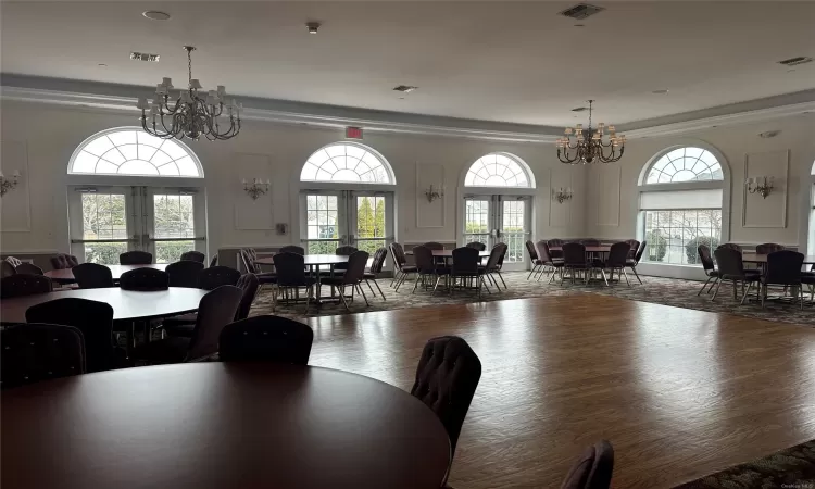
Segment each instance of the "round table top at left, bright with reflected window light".
M106 302L113 308L114 321L134 321L149 317L167 317L198 310L198 303L206 290L171 287L154 292L122 290L118 287L104 289L74 289L50 293L3 299L0 301L0 322L25 323L25 311L42 302L75 297Z

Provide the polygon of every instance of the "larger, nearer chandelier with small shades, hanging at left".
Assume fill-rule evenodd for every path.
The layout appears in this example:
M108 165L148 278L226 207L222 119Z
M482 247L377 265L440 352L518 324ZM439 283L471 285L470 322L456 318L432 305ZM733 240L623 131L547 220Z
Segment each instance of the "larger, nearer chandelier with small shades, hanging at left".
M210 90L205 96L199 95L201 83L192 78L192 46L185 46L189 84L181 90L178 99L171 105L170 90L173 83L163 78L155 87L155 99L148 104L146 98L139 98L136 105L141 109L141 127L146 133L162 139L197 140L201 136L211 141L231 139L240 131L240 111L242 105L235 99L226 99L226 89L218 85L217 90ZM152 123L148 122L148 117ZM165 118L166 117L166 118ZM227 120L228 117L228 120ZM222 127L221 122L227 123Z

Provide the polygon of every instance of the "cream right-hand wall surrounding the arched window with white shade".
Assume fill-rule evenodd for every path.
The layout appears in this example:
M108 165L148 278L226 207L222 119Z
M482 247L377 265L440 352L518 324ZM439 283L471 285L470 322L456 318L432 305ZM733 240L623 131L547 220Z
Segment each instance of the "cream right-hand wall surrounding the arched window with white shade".
M775 138L758 134L780 130ZM778 242L805 251L810 171L815 161L813 114L760 124L714 127L680 136L642 138L626 145L618 163L590 168L587 209L588 234L599 238L627 239L637 230L637 184L643 165L661 150L704 141L724 154L730 167L729 240L744 244ZM748 176L774 176L767 199L747 193Z

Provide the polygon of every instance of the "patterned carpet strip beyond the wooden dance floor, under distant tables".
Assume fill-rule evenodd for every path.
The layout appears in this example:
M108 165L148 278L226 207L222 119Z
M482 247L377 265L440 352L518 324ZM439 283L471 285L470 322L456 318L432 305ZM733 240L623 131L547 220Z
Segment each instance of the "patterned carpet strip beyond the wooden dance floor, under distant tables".
M694 309L699 311L723 312L742 316L755 317L760 319L777 321L782 323L792 323L807 326L815 326L815 306L812 303L805 303L802 311L798 304L791 304L782 301L767 301L765 309L762 309L755 301L739 305L739 301L734 300L732 287L728 284L722 286L715 302L711 302L711 296L702 293L698 297L697 292L702 283L692 280L678 280L673 278L642 277L643 285L639 285L637 279L629 274L632 280L631 287L626 286L625 280L622 284L614 284L606 287L602 280L592 280L589 285L584 285L577 280L574 285L569 281L563 284L548 284L548 278L541 281L527 280L526 272L506 272L503 274L504 280L509 286L507 289L497 291L494 286L490 286L492 293L484 292L479 300L475 291L456 290L448 293L441 290L441 286L436 293L425 291L421 287L416 293L411 293L413 280L406 281L399 291L389 287L390 279L379 279L377 283L385 293L386 300L383 300L378 291L373 297L367 286L363 286L365 293L371 302L369 306L361 297L350 303L351 313L363 313L372 311L387 311L405 308L423 308L426 305L440 304L462 304L469 302L489 302L507 299L522 299L531 297L551 297L551 296L572 296L578 293L600 293L604 296L614 296L622 299L634 301L653 302L657 304L674 305L677 308ZM376 287L374 287L376 290ZM780 294L781 290L773 291L770 296ZM323 289L324 294L329 293L326 287ZM751 293L753 299L754 293ZM808 294L806 297L808 299ZM741 299L741 296L739 296ZM252 315L272 313L272 296L269 289L261 291L252 306ZM302 317L304 315L304 304L278 303L276 314L289 317ZM323 305L310 305L308 316L326 316L335 314L347 314L342 304L336 302L326 302Z

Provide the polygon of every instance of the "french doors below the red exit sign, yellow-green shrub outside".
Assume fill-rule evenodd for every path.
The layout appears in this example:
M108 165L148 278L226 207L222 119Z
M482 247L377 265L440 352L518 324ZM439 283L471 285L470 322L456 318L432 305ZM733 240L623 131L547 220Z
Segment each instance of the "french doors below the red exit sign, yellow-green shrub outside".
M308 253L352 246L373 256L393 241L393 193L306 190L301 193L301 235Z

